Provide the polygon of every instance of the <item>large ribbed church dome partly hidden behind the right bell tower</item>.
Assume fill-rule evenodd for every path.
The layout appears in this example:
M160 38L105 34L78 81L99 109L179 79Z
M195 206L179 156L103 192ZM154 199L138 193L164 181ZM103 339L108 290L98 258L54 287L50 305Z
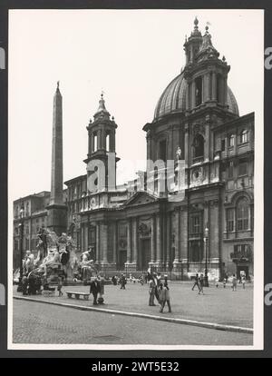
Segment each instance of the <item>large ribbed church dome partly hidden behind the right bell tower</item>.
M186 110L187 84L183 73L175 77L160 95L155 109L154 120L168 114L182 113ZM228 111L239 114L237 100L228 87Z

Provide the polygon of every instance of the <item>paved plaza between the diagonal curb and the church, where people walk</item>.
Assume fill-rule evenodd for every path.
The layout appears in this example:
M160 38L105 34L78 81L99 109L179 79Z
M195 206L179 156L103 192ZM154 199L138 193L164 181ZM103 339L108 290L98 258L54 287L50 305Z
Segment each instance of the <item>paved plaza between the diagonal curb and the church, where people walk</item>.
M103 308L109 310L141 312L154 315L170 316L180 319L196 320L201 322L215 322L225 325L236 325L242 327L253 327L253 288L247 286L246 290L238 285L238 291L232 292L230 286L218 289L211 285L204 289L204 295L199 295L197 289L191 291L192 283L170 282L170 301L172 313L159 312L159 306L150 307L148 305L148 286L140 283L128 282L126 290L120 290L120 286L105 286L105 305ZM44 298L43 295L32 296L35 299L47 299L53 302L66 302L90 306L92 305L92 295L90 301L68 299L65 292L81 291L89 292L89 286L65 286L62 297ZM16 286L14 290L15 295ZM19 294L21 295L21 294Z

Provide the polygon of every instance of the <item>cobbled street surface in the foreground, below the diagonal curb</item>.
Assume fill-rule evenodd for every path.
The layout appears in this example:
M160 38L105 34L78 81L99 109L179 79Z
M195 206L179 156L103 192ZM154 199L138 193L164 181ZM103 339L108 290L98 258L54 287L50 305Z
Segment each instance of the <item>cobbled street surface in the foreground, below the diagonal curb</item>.
M252 345L250 334L14 300L14 343Z

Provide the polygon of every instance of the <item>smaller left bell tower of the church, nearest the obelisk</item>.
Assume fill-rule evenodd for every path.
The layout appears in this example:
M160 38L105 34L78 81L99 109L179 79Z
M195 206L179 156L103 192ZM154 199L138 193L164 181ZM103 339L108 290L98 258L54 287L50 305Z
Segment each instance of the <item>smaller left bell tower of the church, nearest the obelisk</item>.
M87 178L92 173L98 175L98 179L94 180L91 191L90 185L88 186L90 193L116 189L116 163L119 161L115 152L116 128L117 124L114 121L114 117L112 116L111 118L110 113L107 111L103 94L101 94L98 110L93 115L93 122L90 119L90 123L87 126L88 154L84 162L86 164L92 162L94 166L91 170L87 168ZM102 166L104 166L103 172ZM110 173L111 179L109 179ZM101 177L102 181L100 181Z

